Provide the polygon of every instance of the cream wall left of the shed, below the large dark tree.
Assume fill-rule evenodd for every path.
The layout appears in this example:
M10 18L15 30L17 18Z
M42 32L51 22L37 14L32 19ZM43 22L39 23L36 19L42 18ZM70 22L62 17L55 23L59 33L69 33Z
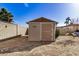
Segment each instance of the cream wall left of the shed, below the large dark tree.
M0 40L4 38L13 37L19 34L25 34L24 30L25 28L22 28L21 26L17 24L10 24L6 22L0 21Z

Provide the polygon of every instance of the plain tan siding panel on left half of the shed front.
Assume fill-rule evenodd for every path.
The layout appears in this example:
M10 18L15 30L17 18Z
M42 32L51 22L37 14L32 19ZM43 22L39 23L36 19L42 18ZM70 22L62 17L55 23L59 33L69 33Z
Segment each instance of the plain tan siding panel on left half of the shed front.
M29 41L40 41L40 22L29 23Z

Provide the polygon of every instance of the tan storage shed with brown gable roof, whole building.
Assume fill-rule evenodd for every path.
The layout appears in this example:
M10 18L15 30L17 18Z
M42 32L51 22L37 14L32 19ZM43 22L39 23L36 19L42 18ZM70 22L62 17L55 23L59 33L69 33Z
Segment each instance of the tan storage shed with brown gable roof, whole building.
M40 17L27 24L29 41L55 41L56 21Z

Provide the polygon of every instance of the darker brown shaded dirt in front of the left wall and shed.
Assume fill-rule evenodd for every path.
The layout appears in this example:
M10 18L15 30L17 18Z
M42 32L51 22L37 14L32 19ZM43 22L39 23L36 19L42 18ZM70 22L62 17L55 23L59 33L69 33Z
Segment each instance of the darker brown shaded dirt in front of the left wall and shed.
M30 51L41 45L47 45L51 42L33 42L28 41L27 37L16 37L6 41L0 42L0 53L11 53L19 51Z

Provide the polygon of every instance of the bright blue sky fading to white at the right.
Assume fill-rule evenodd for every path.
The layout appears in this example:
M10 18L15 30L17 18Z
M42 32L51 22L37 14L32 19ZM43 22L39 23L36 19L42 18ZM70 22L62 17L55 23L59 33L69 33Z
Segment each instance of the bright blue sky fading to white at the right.
M45 17L63 26L67 17L79 18L79 4L69 3L0 3L0 8L6 8L14 17L16 24L27 26L26 22Z

